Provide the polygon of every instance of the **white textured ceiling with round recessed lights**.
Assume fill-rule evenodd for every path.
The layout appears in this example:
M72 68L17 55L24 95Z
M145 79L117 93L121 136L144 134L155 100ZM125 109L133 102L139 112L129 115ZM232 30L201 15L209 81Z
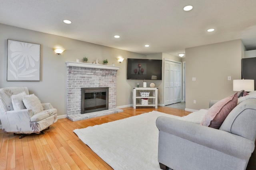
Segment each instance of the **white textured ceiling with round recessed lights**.
M234 39L256 49L256 0L0 0L0 23L142 54Z

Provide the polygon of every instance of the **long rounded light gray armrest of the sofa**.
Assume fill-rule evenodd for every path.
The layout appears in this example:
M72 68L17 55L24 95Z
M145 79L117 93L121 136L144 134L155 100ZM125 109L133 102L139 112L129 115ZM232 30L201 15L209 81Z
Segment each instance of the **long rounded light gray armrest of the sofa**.
M254 141L219 129L164 116L156 119L156 126L160 131L243 160L254 151Z

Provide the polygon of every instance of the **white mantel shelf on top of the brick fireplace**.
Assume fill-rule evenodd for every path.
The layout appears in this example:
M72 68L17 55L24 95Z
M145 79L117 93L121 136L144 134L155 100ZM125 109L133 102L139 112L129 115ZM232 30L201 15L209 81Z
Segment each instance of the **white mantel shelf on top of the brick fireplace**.
M68 66L74 66L74 67L86 67L86 68L101 68L101 69L109 69L109 70L119 70L119 66L109 66L109 65L103 65L103 64L81 63L81 62L74 62L74 61L67 61L66 65L67 65L67 67Z

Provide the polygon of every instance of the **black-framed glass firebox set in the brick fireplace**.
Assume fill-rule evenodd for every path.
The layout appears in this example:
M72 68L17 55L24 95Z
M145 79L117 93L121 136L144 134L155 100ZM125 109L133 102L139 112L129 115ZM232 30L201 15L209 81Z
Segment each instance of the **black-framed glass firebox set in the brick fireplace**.
M81 88L81 114L108 109L108 87Z

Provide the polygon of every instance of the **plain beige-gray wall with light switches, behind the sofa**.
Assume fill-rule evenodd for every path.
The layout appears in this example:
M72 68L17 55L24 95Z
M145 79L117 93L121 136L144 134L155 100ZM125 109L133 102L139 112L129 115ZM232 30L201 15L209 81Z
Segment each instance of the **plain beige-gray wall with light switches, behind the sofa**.
M205 109L210 100L234 94L233 80L241 79L244 51L240 39L186 49L186 109Z

